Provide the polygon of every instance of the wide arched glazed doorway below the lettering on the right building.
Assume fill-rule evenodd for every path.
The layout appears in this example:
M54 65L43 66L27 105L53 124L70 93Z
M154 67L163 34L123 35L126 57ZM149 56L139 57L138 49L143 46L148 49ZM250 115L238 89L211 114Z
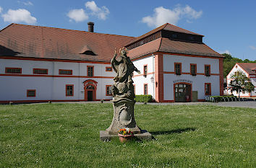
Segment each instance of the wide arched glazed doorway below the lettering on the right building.
M174 102L191 102L192 84L177 83L174 84Z

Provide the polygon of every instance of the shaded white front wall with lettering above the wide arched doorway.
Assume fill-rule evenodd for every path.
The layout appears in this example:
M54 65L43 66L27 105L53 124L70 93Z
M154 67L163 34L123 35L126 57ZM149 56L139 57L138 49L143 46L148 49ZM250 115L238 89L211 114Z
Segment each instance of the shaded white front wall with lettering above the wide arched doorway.
M182 63L182 75L164 74L164 100L174 100L174 84L182 81L192 85L192 91L197 91L198 100L205 100L205 83L211 84L211 94L220 94L219 60L217 58L198 58L189 56L163 55L163 71L174 72L174 63ZM190 74L190 63L197 65L197 75ZM205 65L210 65L210 76L205 76ZM184 73L184 74L183 74Z

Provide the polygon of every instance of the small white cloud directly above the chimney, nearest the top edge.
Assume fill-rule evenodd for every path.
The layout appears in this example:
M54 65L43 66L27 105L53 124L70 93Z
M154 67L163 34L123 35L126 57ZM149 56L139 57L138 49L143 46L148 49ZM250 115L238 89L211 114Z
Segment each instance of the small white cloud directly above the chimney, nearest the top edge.
M99 19L106 19L106 16L110 13L106 6L99 8L95 1L88 1L85 3L85 7L92 11L92 14L97 16Z

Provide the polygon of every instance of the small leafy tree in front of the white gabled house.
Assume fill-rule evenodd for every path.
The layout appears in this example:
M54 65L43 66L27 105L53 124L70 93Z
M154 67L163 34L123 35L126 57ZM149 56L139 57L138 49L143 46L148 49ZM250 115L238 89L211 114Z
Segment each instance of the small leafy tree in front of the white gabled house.
M238 97L240 98L240 93L243 92L252 92L255 90L255 86L252 84L250 79L244 74L243 71L236 71L231 74L231 82L229 87L231 89L231 93L236 91L238 93Z

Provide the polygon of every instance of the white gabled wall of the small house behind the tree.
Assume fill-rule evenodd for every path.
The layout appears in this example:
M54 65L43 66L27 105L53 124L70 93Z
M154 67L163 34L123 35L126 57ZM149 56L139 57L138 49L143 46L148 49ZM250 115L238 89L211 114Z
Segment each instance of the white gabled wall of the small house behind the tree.
M231 75L234 74L236 71L244 72L244 74L250 79L252 84L255 86L255 91L250 92L250 93L249 92L245 92L245 93L240 92L240 97L252 97L252 98L255 98L256 97L256 74L248 74L247 71L244 71L244 69L241 66L239 66L239 64L237 64L237 63L231 69L229 74L226 76L226 84L228 86L227 94L234 94L234 96L236 96L236 97L239 96L239 93L237 93L237 92L231 93L231 91L229 89L229 84L232 81Z

